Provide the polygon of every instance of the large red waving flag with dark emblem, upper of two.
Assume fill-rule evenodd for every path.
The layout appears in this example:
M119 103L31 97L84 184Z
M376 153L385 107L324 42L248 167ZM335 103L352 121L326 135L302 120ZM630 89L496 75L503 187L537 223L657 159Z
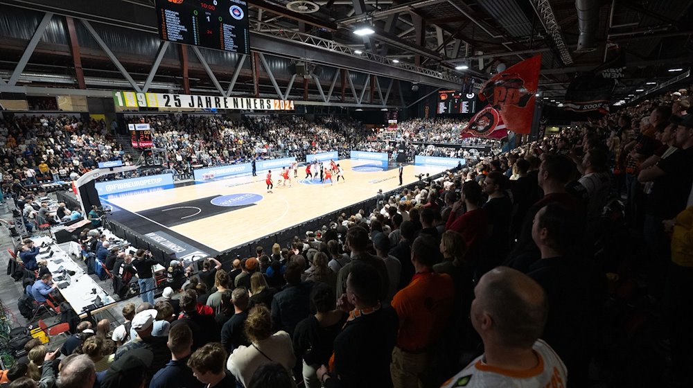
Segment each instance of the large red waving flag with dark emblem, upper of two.
M500 112L507 130L520 134L531 130L540 69L541 55L536 55L496 74L479 92L479 98Z

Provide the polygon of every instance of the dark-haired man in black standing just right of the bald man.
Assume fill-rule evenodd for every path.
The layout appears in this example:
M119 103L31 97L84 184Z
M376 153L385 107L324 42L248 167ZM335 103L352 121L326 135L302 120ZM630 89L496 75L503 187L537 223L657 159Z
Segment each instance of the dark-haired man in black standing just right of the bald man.
M599 340L600 307L606 279L590 259L574 254L584 245L584 220L562 204L552 203L534 216L532 239L541 259L527 275L539 283L549 302L541 336L568 367L574 387L587 385L591 351Z

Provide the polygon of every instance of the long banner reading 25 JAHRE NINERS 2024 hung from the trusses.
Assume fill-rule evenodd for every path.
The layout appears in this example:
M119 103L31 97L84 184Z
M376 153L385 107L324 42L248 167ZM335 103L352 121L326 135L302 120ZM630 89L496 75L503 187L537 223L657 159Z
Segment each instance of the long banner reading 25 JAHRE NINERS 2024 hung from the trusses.
M294 102L292 100L137 93L135 91L114 91L113 101L116 106L126 108L294 110Z

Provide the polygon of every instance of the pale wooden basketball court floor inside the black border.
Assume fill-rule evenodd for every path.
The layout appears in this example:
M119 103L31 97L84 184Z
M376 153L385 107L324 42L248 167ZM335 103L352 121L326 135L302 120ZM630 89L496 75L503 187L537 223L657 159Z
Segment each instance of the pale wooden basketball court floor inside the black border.
M370 168L367 164L367 161L349 159L340 161L340 165L344 168L345 181L342 182L340 179L339 183L335 182L333 185L319 184L319 180L306 182L303 179L306 176L305 168L299 167L298 178L292 181L291 187L277 184L279 171L272 170L274 180L272 193L267 193L266 190L267 172L258 171L257 177L220 179L153 193L134 195L128 193L122 197L109 197L107 202L137 213L143 218L148 217L141 213L147 212L151 216L152 209L167 211L169 218L179 216L180 219L176 219L176 222L169 226L148 219L159 224L164 231L170 229L222 252L267 234L294 227L336 209L367 200L369 197L374 197L380 188L387 192L398 187L397 168L379 170ZM433 175L443 170L445 168L442 166L405 166L403 184L416 182L418 178L415 175L421 173ZM336 177L333 179L336 181ZM186 202L216 195L239 197L240 194L256 194L261 195L261 198L256 195L247 195L257 200L251 206L237 206L225 213L204 218L198 217L190 222L185 221L185 218L190 217L195 213L195 209L198 209L190 209L193 206L185 206Z

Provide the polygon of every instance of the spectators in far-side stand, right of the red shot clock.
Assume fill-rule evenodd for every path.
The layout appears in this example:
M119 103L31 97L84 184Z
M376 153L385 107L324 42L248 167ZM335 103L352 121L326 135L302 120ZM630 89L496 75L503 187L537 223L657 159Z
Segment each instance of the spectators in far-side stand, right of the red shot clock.
M190 173L193 166L208 167L349 150L365 133L362 124L345 118L301 116L245 116L232 121L217 115L147 116L132 118L149 123L155 148L166 152L169 168Z

